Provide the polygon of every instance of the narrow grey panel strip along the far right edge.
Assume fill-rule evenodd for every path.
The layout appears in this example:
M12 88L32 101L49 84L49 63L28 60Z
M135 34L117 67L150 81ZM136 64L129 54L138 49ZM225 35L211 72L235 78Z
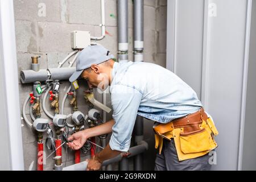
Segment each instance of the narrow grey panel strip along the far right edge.
M252 2L242 170L256 170L256 2Z

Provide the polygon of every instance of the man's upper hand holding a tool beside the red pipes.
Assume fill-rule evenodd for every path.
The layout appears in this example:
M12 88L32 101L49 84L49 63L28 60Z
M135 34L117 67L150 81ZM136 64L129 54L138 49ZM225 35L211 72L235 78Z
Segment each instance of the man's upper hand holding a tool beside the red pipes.
M79 150L82 146L84 146L84 143L86 142L87 138L85 136L84 131L79 131L68 137L68 141L71 140L72 142L68 142L67 146L72 150Z

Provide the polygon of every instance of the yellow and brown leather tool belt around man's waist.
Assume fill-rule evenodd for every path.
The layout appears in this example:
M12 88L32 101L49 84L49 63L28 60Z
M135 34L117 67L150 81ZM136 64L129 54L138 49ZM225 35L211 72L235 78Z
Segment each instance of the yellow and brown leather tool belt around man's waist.
M203 107L196 113L169 123L159 123L153 129L155 148L159 147L159 154L162 151L163 139L174 139L179 161L203 156L217 147L214 136L218 135L218 131Z

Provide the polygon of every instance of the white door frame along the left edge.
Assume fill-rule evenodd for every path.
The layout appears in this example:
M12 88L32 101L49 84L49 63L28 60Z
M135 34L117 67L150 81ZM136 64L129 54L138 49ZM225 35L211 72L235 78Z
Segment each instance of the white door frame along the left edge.
M3 103L1 109L5 109L5 116L0 119L1 125L6 126L5 138L9 156L0 156L2 170L24 170L22 129L19 107L18 66L16 60L16 42L14 26L14 6L11 0L0 0L0 61L3 88ZM6 119L4 119L6 118ZM1 152L1 154L4 154ZM3 159L9 158L9 159Z

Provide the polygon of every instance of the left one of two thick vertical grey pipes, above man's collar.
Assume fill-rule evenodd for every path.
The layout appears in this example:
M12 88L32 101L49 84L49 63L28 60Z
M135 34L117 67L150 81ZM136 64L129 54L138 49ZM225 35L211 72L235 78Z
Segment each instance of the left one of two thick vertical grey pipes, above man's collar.
M128 1L118 0L118 61L128 61Z

